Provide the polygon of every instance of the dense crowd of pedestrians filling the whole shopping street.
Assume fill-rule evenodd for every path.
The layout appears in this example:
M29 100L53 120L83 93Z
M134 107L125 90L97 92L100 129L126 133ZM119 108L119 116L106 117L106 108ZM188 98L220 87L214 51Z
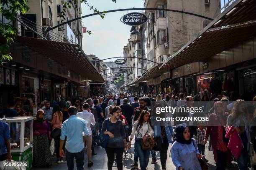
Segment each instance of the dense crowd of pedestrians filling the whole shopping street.
M99 93L72 100L62 97L58 102L45 100L38 103L38 111L34 114L33 166L51 166L50 145L54 140L57 163L63 163L65 155L69 170L74 169L74 158L77 170L82 170L84 152L87 152L87 166L91 167L93 156L97 155L95 145L102 146L103 136L108 170L112 169L114 161L118 170L123 169L123 153L131 148L132 140L134 163L130 165L131 168L147 170L150 154L151 163L154 164L157 161L156 152L159 152L161 168L166 170L167 150L171 145L170 157L177 170L204 169L208 162L205 158L205 144L208 141L217 170L234 166L233 160L237 162L239 170L247 170L256 164L250 159L256 152L256 97L252 100L252 105L249 105L236 92L212 97L207 92L202 97L186 93L120 92L108 95ZM155 124L152 122L156 111L153 103L163 101L171 107L202 105L201 116L209 116L209 120ZM248 107L251 109L248 110ZM9 102L9 108L1 112L0 117L4 115L33 116L31 109L22 105L19 99ZM180 116L179 113L172 115L177 116ZM186 116L193 115L189 112ZM9 139L15 129L7 126L0 121L0 161L11 159ZM155 147L158 141L159 146Z

